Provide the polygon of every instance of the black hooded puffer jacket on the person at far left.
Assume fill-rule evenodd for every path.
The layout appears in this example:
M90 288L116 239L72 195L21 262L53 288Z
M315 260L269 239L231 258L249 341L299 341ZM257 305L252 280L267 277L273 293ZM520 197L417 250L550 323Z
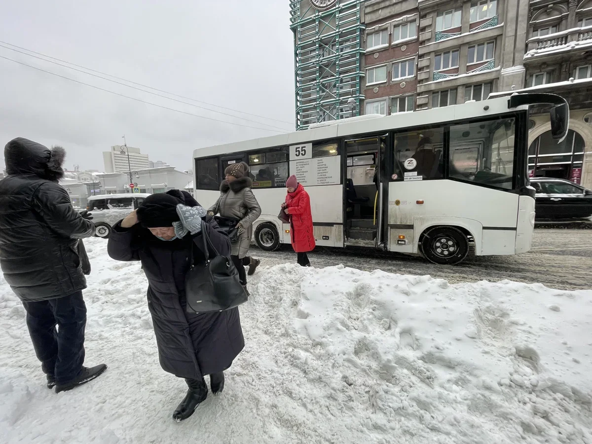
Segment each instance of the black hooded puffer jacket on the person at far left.
M0 181L0 266L24 301L44 301L86 288L78 239L95 226L72 208L57 181L65 152L14 139L4 149L8 177Z

